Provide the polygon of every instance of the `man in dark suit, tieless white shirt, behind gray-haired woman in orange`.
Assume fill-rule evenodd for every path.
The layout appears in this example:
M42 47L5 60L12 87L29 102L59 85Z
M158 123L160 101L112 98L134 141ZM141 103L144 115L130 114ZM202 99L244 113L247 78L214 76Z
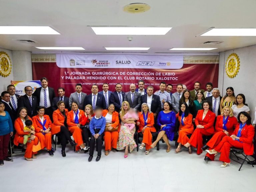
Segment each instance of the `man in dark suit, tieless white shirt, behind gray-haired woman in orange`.
M161 111L160 97L153 94L154 88L152 86L147 87L147 95L141 96L141 103L147 103L149 110L154 113L154 117Z

